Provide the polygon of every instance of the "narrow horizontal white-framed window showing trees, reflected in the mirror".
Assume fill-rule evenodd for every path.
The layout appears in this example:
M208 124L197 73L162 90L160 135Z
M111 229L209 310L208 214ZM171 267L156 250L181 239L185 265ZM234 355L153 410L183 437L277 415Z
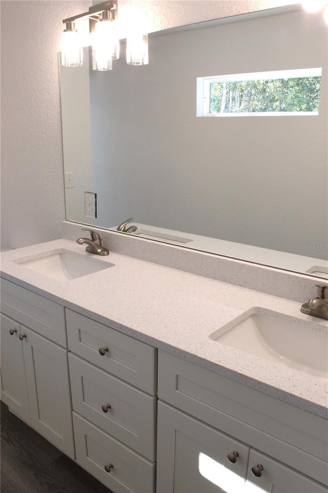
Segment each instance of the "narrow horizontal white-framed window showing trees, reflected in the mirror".
M318 115L321 68L197 78L197 117Z

